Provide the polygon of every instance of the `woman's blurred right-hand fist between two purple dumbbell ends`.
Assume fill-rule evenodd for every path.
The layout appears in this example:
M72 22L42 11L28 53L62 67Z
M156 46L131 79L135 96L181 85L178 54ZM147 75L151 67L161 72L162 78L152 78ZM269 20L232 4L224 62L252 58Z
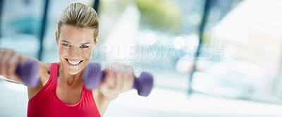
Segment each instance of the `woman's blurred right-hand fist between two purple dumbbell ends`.
M131 90L134 82L133 67L125 64L107 64L104 70L105 78L99 92L109 101L116 99L118 94Z

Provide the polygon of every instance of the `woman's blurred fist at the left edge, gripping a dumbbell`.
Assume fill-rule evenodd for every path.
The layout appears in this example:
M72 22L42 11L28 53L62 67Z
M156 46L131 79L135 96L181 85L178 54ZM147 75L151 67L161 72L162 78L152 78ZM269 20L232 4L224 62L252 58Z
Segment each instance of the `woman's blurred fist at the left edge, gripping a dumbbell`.
M13 49L0 49L0 75L5 78L22 83L20 76L16 74L16 69L27 57L13 51Z

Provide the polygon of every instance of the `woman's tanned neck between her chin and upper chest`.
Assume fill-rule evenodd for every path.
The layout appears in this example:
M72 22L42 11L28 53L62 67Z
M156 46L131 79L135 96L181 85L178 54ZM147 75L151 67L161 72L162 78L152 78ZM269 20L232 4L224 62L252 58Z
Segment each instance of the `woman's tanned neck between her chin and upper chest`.
M82 71L80 73L71 75L68 73L67 70L63 70L63 66L61 66L61 63L58 63L59 71L58 71L58 79L60 79L64 84L68 86L77 86L78 84L83 82L82 78Z

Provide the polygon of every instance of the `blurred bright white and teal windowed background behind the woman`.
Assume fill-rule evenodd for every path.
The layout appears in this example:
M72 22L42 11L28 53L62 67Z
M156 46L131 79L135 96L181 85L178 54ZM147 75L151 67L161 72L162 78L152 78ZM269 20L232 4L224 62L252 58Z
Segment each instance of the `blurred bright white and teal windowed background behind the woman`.
M58 62L57 19L99 16L93 62L153 73L149 97L121 94L108 116L282 116L280 0L0 0L0 47ZM0 116L27 116L27 89L0 80Z

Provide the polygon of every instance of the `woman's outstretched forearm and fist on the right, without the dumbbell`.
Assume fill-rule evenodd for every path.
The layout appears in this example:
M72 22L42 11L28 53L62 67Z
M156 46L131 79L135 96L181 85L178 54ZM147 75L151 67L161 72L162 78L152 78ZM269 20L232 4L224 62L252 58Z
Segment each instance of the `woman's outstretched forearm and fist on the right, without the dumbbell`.
M98 90L93 91L94 99L101 116L104 115L109 103L121 92L131 90L134 82L133 68L124 64L108 64L105 78Z

